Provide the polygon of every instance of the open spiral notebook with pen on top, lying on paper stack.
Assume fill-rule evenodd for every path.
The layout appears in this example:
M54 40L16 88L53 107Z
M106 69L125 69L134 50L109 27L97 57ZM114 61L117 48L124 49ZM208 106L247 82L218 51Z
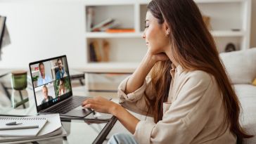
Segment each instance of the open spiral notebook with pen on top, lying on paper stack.
M10 122L16 122L18 125L6 125ZM0 136L37 136L46 122L46 118L37 116L0 117ZM33 128L35 126L37 127Z

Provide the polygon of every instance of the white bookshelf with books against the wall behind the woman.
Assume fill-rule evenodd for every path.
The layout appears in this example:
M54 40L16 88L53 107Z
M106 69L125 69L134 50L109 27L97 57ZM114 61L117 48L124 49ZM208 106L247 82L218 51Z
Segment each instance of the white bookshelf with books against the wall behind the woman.
M250 44L251 0L194 0L203 15L210 17L211 34L219 53L232 43L236 50L245 50ZM84 46L87 55L87 70L97 72L133 72L147 51L142 39L147 0L87 0L84 1ZM135 32L90 32L87 10L93 8L93 23L96 25L107 18L120 22L120 27L132 28ZM108 62L90 60L91 41L108 41ZM102 46L99 46L100 48Z

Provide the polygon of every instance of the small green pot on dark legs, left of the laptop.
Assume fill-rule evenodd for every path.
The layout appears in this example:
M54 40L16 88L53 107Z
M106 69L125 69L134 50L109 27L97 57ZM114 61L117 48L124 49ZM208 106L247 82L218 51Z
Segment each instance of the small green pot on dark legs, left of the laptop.
M12 86L15 90L27 88L27 71L18 70L11 72Z

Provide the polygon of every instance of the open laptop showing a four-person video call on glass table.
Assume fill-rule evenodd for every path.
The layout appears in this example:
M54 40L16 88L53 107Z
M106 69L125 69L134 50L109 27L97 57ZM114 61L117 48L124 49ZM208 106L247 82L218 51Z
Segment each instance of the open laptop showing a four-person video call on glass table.
M66 55L30 63L30 75L37 113L86 117L92 112L81 107L89 97L72 95Z

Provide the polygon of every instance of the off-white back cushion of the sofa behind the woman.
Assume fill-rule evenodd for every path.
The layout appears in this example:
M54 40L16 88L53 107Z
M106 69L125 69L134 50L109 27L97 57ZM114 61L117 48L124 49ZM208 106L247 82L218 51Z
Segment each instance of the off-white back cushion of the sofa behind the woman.
M232 84L252 84L256 77L256 48L220 53Z

